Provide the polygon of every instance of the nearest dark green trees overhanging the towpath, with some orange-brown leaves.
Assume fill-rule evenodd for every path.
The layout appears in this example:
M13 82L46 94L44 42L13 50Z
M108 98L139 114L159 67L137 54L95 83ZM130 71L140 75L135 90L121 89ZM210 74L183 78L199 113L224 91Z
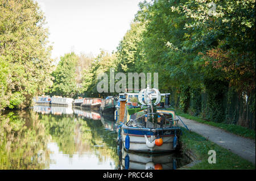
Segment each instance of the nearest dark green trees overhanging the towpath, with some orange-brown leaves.
M201 89L207 93L205 117L222 122L228 86L238 96L255 97L255 2L214 1L216 12L210 2L143 2L135 20L145 24L139 46L143 71L159 72L159 89L172 92L171 104L199 115L200 95L193 90Z

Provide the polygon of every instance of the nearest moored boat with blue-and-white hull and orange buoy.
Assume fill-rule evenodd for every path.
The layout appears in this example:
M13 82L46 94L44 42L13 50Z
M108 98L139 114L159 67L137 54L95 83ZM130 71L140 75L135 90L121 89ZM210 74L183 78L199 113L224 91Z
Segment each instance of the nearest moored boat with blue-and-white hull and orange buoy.
M123 115L119 113L117 120L118 141L123 143L123 148L147 153L164 153L177 148L181 128L177 126L174 111L156 108L160 98L158 90L147 87L138 95L139 102L145 106L144 110L142 108L134 113L127 105L123 111L120 108L119 112ZM156 99L155 103L152 103L153 99Z

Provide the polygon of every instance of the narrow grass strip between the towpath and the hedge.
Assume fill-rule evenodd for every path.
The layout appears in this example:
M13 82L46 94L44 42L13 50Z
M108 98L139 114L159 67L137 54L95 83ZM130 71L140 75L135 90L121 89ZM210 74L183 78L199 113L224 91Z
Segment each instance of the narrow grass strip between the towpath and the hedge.
M186 119L191 119L191 120L195 120L199 123L212 125L213 127L224 129L225 131L228 131L233 134L237 134L238 136L247 137L247 138L251 138L251 139L255 140L255 131L252 129L241 127L241 126L235 125L235 124L215 123L212 121L207 121L207 120L202 119L201 117L191 116L191 115L189 115L187 113L183 113L181 111L175 111L175 112L177 115L185 117Z

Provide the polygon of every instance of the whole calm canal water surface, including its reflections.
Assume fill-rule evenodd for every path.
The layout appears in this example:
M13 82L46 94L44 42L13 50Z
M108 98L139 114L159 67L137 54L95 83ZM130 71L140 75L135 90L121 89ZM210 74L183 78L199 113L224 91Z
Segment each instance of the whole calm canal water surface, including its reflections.
M114 117L72 107L35 106L0 117L0 169L177 169L179 153L127 153Z

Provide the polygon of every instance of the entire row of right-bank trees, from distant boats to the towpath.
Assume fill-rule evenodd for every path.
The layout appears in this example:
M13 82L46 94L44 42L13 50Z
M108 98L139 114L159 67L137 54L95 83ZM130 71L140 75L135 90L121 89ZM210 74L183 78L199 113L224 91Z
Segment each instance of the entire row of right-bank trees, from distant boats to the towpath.
M96 89L98 75L106 73L109 78L110 68L126 75L157 72L159 90L171 92L172 107L228 123L226 113L231 107L227 104L241 103L238 113L234 112L236 120L240 120L237 124L255 128L255 2L213 1L216 11L209 8L210 2L139 3L134 22L117 51L109 54L102 50L83 70L79 94L115 94L99 94ZM241 101L227 103L229 87ZM244 101L246 96L249 104ZM254 115L250 116L254 123L244 119L247 110Z

